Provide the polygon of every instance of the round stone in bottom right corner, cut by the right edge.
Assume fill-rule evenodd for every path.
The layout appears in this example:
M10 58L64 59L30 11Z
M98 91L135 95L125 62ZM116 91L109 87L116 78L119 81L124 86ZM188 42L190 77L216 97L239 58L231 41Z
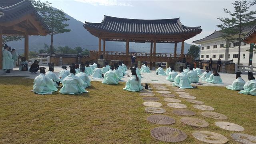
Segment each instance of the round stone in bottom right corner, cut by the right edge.
M242 144L256 144L256 136L252 136L249 134L242 134L242 133L234 133L231 134L231 138Z

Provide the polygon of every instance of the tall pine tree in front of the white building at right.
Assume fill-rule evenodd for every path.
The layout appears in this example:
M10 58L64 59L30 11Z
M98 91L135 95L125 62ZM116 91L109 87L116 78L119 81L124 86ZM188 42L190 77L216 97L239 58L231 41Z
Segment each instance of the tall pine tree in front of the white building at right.
M240 64L240 52L241 52L241 42L245 36L244 30L249 26L255 24L255 14L256 10L248 12L249 8L255 4L255 2L235 1L232 2L234 6L234 12L224 8L224 12L229 14L231 18L218 18L223 24L217 25L221 28L220 32L224 34L222 37L231 42L238 42L238 60L237 63Z

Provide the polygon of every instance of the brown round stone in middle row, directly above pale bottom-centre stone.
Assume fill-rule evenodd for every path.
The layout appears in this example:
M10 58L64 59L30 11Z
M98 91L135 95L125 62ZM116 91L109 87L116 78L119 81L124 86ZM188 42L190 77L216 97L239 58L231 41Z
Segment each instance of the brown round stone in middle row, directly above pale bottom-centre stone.
M184 124L190 125L190 126L196 126L196 127L207 127L209 126L209 123L198 119L198 118L181 118L180 119L181 122L183 122Z

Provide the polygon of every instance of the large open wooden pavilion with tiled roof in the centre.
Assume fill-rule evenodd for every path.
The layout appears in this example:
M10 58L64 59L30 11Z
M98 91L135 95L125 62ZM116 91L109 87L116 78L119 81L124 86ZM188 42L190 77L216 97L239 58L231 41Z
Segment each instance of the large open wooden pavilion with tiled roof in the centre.
M150 53L135 53L136 61L148 61L150 67L154 67L155 62L175 63L183 58L191 62L192 58L184 54L184 41L202 32L201 26L184 26L180 18L139 20L104 16L101 23L85 22L84 28L99 38L99 50L90 51L90 58L99 59L103 55L106 60L124 60L130 65L133 52L129 52L129 42L150 42ZM106 41L126 42L126 52L106 51ZM182 43L181 52L177 54L179 42ZM173 43L174 54L156 53L156 43Z

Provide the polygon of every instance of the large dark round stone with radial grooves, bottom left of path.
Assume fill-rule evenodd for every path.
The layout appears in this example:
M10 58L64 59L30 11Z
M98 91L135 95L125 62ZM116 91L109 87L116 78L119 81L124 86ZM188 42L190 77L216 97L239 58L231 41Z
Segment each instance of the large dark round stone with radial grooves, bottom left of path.
M151 136L164 142L181 142L187 135L179 129L170 127L157 127L150 131Z

